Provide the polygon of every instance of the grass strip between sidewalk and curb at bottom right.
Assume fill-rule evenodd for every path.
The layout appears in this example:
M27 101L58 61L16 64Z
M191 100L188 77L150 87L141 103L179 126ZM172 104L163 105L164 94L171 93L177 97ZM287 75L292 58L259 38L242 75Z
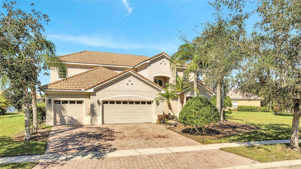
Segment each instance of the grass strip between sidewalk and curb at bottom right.
M300 143L299 143L299 146ZM293 151L288 144L267 144L260 146L226 147L225 152L237 154L259 162L301 159L301 151Z

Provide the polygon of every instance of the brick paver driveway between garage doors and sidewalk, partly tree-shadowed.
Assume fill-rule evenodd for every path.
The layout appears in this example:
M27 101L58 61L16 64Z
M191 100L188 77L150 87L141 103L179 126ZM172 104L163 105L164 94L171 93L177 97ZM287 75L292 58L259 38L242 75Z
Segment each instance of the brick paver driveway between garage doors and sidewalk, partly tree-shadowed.
M157 124L59 125L45 154L201 145Z

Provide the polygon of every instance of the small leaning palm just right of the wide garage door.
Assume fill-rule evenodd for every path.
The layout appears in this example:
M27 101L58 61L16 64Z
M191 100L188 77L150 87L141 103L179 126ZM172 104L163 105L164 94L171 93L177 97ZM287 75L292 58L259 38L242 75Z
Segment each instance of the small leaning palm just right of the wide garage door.
M166 102L167 106L168 106L168 109L172 112L172 114L175 116L175 119L178 121L178 118L175 115L175 113L172 111L172 107L171 107L171 104L170 104L170 100L172 100L175 97L178 97L177 92L175 90L173 90L172 88L169 88L169 84L166 84L165 92L164 93L158 93L157 97L155 98L155 101Z

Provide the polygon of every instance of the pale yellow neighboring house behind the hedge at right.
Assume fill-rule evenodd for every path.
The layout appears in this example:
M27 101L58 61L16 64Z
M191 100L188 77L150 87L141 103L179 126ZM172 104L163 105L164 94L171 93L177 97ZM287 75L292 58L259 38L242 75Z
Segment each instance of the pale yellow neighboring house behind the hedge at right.
M237 106L260 106L260 97L245 98L240 93L230 90L228 96L231 98L233 103L233 109L237 109Z

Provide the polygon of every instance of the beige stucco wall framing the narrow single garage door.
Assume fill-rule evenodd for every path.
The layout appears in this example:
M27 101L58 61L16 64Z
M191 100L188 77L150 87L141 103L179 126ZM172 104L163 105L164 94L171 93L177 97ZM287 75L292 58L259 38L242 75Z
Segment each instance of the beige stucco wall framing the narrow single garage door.
M49 99L52 100L50 104L48 103ZM90 95L88 93L46 91L46 125L54 125L53 100L84 100L85 111L83 113L85 114L85 117L90 116Z

